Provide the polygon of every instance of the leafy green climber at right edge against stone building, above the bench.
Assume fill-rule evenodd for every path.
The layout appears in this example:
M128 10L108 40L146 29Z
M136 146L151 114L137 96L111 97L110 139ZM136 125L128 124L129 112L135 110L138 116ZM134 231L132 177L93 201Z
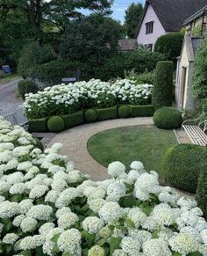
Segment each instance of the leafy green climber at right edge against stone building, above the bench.
M199 99L207 98L207 39L196 52L193 89Z

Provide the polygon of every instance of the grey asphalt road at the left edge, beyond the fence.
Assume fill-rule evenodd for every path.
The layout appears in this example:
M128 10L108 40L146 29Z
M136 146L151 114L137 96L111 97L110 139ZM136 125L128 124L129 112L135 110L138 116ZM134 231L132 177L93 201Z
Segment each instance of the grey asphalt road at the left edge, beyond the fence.
M0 109L6 110L12 106L19 106L22 104L21 99L15 99L15 92L18 90L18 81L22 78L18 78L15 81L7 84L0 84Z

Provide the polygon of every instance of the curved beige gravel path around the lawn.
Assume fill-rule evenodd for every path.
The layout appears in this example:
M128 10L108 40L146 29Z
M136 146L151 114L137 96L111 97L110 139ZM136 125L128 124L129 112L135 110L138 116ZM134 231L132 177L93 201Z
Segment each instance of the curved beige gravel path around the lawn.
M110 177L106 168L98 164L96 160L89 155L87 150L89 138L100 131L110 128L152 124L153 118L151 117L116 119L89 123L70 128L55 135L47 147L51 147L54 143L62 143L63 148L61 149L61 154L68 156L71 161L75 162L77 170L88 173L90 178L94 180L109 179Z

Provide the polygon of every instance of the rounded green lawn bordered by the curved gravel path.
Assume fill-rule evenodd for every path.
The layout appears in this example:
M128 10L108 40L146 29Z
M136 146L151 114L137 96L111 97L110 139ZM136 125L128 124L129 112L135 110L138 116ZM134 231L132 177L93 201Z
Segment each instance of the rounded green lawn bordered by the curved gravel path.
M161 174L161 157L169 147L177 144L172 130L148 126L113 128L89 138L88 150L98 163L108 166L113 161L125 164L127 170L134 160L145 165L146 171ZM160 175L164 184L165 177Z

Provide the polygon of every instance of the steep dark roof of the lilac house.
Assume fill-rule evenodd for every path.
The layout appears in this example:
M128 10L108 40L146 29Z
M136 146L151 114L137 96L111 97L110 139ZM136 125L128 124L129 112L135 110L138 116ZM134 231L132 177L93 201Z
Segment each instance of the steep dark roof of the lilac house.
M186 18L189 18L197 10L203 8L206 3L207 0L146 0L136 35L139 34L149 4L152 5L153 11L161 21L165 31L176 32L182 29Z

